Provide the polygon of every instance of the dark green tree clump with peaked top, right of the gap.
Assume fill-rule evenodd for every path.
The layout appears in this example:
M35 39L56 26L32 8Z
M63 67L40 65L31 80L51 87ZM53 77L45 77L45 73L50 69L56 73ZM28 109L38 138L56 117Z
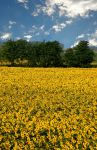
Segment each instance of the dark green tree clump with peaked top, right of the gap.
M76 47L66 50L64 58L67 66L88 67L94 59L94 52L87 41L80 41Z

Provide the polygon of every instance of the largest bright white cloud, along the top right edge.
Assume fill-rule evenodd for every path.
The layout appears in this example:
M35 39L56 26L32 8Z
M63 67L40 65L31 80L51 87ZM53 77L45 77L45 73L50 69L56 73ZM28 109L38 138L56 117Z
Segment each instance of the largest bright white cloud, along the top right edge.
M89 11L97 11L97 0L46 0L45 6L37 8L37 13L43 12L52 16L56 9L60 16L87 17Z

